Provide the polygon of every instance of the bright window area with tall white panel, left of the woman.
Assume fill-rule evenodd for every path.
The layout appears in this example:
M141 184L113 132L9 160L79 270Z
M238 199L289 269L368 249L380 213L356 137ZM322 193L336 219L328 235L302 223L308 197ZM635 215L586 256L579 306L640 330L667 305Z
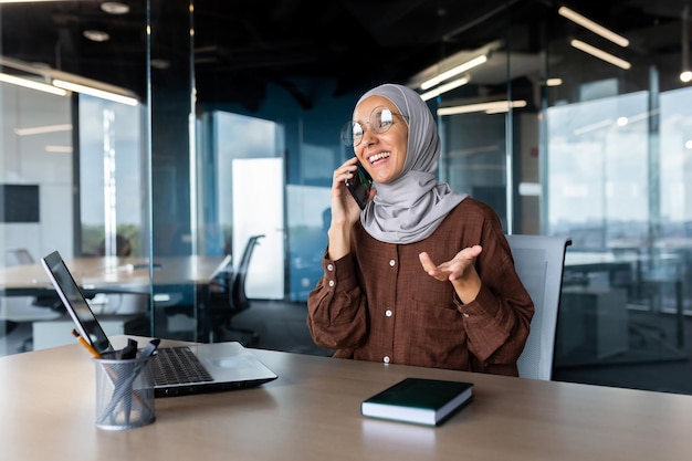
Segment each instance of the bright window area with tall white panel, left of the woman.
M264 235L248 270L250 297L284 298L284 135L280 124L216 112L203 118L198 150L203 212L200 249L233 256L238 270L250 238ZM203 172L202 172L203 171ZM201 240L203 239L203 243ZM201 247L203 244L203 247Z

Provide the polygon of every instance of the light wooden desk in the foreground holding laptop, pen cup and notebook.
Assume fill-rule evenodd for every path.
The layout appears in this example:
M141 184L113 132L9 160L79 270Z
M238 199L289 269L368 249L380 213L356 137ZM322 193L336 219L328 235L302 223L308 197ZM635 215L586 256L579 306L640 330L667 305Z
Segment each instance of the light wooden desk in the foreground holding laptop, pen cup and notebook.
M692 396L254 353L277 380L157 399L156 422L128 431L95 427L94 364L80 345L2 357L2 458L651 461L692 453ZM360 416L363 399L406 376L472 381L474 401L439 428Z

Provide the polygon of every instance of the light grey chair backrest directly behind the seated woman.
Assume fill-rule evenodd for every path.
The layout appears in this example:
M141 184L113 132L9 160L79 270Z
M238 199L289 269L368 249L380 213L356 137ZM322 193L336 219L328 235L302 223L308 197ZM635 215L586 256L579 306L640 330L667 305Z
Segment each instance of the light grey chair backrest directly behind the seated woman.
M567 237L506 235L516 272L534 302L531 333L518 358L520 377L551 380Z

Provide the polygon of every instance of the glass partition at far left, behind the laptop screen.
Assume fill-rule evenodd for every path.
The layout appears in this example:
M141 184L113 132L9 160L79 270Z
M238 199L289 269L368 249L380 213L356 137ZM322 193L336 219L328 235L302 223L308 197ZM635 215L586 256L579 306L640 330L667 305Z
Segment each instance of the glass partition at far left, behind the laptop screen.
M151 241L145 12L0 2L3 354L74 342L39 265L55 250L111 333L150 332L149 271L135 270ZM141 40L124 46L108 21Z

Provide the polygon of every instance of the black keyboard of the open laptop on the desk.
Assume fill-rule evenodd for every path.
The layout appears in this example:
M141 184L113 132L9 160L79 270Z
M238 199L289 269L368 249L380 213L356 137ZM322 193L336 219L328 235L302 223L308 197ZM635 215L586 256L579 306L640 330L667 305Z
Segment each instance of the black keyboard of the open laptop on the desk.
M186 346L158 349L151 370L155 386L213 380L195 353Z

